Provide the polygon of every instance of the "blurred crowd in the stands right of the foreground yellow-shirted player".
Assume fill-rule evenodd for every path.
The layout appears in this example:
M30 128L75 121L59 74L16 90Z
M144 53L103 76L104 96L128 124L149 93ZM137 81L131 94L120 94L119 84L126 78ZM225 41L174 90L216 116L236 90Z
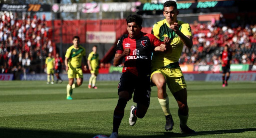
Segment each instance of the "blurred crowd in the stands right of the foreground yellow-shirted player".
M232 64L255 64L256 25L231 28L216 26L215 23L190 25L193 47L184 47L180 64L214 65L220 64L224 45L232 51Z

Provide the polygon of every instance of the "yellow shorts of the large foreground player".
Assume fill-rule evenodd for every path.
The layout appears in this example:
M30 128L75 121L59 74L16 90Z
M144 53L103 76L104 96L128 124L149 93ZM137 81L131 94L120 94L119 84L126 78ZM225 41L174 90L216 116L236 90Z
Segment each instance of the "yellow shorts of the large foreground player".
M151 69L151 76L156 73L161 73L164 75L168 88L170 89L171 93L174 94L182 89L187 87L186 81L182 74L181 68L152 68Z

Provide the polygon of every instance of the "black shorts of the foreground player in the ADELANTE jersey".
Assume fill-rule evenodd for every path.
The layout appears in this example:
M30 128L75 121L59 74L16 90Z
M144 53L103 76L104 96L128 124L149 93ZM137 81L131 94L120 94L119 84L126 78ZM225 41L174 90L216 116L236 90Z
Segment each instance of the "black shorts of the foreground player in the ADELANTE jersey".
M133 102L149 107L151 93L150 75L138 77L131 72L124 72L120 78L120 82L117 88L118 93L122 91L128 91L129 100L132 99L132 94L134 92Z

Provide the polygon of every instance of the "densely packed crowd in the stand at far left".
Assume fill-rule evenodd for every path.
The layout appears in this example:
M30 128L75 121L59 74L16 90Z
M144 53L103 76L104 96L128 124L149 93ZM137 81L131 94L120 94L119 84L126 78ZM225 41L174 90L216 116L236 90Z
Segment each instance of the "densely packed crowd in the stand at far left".
M40 72L41 58L53 51L45 15L43 20L23 15L22 21L11 12L0 15L0 73Z

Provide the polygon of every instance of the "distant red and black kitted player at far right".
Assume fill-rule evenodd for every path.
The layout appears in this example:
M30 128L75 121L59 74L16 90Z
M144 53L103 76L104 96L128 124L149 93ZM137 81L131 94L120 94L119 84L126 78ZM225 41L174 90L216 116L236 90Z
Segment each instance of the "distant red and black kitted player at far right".
M222 87L227 86L227 81L230 75L231 59L232 59L232 52L228 50L228 45L226 44L221 54ZM225 76L226 76L226 79L225 79Z

